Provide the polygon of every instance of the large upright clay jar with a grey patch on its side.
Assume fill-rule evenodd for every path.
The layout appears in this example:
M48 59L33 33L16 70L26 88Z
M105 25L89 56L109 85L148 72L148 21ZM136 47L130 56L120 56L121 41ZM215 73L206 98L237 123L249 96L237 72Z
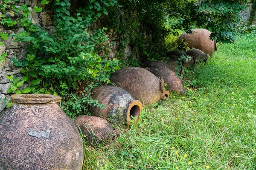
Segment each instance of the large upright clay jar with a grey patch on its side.
M0 118L0 170L81 170L83 142L61 97L14 94Z

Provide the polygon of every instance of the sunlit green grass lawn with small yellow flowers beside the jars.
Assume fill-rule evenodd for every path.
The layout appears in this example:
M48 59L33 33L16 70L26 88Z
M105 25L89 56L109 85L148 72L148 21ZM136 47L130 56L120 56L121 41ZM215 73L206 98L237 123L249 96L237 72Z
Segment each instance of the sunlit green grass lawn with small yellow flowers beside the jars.
M116 143L85 145L84 170L256 169L256 36L218 44L185 79L186 94L144 107L137 126L116 125Z

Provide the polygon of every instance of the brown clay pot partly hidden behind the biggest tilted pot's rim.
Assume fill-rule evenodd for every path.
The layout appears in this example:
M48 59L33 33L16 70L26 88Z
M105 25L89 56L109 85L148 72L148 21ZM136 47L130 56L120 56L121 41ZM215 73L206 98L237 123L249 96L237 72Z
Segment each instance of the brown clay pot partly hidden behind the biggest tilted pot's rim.
M175 91L177 93L184 93L186 91L182 86L180 78L170 69L155 68L150 69L150 71L157 77L163 77L164 82L168 85L169 91Z

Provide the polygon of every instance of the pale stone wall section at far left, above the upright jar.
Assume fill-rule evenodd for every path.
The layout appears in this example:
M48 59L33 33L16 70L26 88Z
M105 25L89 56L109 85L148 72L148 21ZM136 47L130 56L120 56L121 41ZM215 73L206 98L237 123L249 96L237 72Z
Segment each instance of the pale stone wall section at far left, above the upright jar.
M21 5L24 5L25 3L28 4L30 12L29 19L33 24L37 24L38 26L41 26L42 28L45 28L47 30L51 30L54 27L51 5L43 6L40 4L41 0L17 0L15 2L15 5L16 7L19 7ZM43 11L40 13L35 13L33 10L33 7L35 5L44 8ZM15 17L19 17L19 15L21 14L15 14ZM8 28L9 30L3 30L3 26L0 25L0 31L4 31L8 34L17 34L18 32L24 30L22 27L20 27L19 21L15 26L11 26ZM7 94L7 90L10 88L10 82L9 79L6 78L6 76L14 75L14 78L17 77L19 80L22 78L22 75L20 74L21 68L16 68L12 64L10 59L15 58L22 61L26 59L27 55L27 44L22 42L14 42L13 40L14 38L12 37L9 37L7 40L2 40L0 38L0 41L4 43L0 46L0 55L3 53L7 53L5 62L0 63L0 111L3 111L3 109L7 108L7 103L5 102L5 100L10 99L10 94ZM26 86L27 85L22 85L19 90L23 90L24 88L26 88Z

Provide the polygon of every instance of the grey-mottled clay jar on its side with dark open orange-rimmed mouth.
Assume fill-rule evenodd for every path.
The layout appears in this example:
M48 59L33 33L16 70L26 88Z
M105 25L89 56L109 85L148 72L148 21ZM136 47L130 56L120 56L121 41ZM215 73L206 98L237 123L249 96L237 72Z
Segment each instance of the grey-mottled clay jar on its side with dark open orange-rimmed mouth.
M89 106L89 111L94 116L104 116L118 123L130 124L131 116L138 120L142 110L142 103L135 100L131 94L122 88L106 85L93 89L93 99L98 99L100 104L105 104L104 109Z

